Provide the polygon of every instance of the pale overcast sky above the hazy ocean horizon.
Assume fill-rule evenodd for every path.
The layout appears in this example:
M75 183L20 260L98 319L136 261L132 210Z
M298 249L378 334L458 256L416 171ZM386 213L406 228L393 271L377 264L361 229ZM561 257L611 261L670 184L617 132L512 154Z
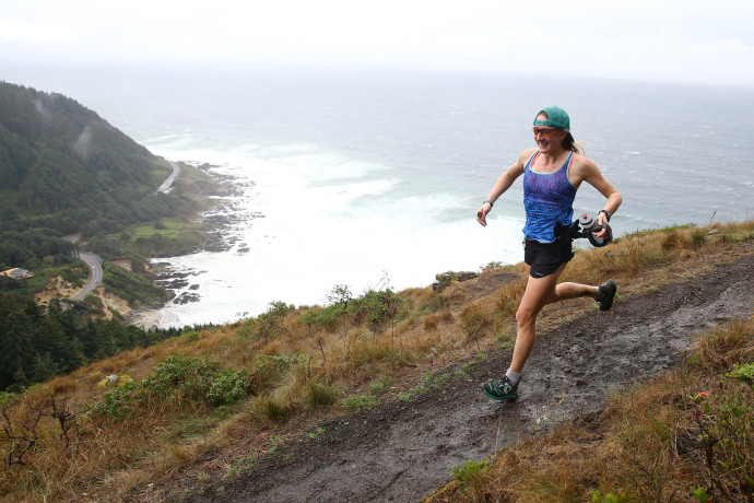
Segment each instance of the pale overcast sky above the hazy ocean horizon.
M0 0L2 62L412 67L754 86L752 0Z

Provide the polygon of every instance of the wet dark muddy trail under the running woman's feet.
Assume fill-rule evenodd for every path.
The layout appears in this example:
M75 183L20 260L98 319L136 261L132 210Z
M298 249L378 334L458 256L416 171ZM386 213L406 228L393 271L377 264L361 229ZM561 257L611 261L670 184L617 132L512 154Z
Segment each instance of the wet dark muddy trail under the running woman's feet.
M193 488L192 502L419 501L469 459L532 431L599 410L611 389L678 363L695 332L749 316L754 256L680 283L634 295L606 313L587 313L540 334L516 402L497 402L479 383L507 369L507 351L459 362L438 389L320 425L281 445L234 481Z

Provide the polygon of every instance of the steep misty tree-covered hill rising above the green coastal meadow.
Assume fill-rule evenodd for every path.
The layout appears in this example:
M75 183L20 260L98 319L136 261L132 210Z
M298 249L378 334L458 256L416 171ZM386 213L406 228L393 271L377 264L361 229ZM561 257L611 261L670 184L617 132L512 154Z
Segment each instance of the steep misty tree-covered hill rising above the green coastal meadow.
M94 235L175 211L155 197L169 167L60 94L0 83L0 218L4 230Z

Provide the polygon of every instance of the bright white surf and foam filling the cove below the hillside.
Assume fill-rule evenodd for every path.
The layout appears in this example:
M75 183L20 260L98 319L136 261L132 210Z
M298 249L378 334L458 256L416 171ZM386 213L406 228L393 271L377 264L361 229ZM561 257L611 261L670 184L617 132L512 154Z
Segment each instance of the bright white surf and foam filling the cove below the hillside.
M232 321L259 314L273 301L322 303L335 284L360 293L385 274L394 289L423 288L438 272L520 259L522 222L491 218L483 229L473 215L440 220L437 210L463 208L461 198L450 192L393 197L403 182L389 176L389 166L311 147L256 149L256 156L238 150L153 150L168 159L220 161L213 171L244 187L243 195L228 198L232 217L241 217L231 226L236 239L231 249L169 260L177 271L196 273L189 279L199 289L186 292L201 300L168 304L164 327ZM259 213L263 218L250 217Z

